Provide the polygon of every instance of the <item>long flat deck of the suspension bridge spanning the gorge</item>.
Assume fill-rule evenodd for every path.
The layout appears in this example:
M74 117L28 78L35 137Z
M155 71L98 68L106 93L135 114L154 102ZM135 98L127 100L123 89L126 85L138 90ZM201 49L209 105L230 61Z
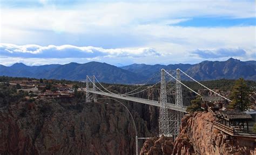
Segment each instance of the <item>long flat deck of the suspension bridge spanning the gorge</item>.
M86 89L83 89L83 90L86 91ZM149 104L149 105L154 105L154 106L159 106L160 107L159 102L156 101L156 100L137 98L137 97L130 97L130 96L124 96L124 95L114 95L114 94L107 93L107 92L104 93L104 92L101 92L101 91L93 91L92 89L89 89L88 92L96 93L98 95L104 95L104 96L109 96L109 97L114 97L114 98L119 98L119 99L124 99L124 100L130 100L132 102ZM178 106L178 105L173 104L173 103L168 103L166 108L167 109L171 109L171 110L186 112L187 106Z

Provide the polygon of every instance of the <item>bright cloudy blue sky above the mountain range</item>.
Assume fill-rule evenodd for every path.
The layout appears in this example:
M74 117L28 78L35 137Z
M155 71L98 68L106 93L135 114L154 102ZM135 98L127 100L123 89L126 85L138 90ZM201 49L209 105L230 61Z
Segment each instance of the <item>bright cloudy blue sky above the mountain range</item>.
M256 59L246 0L0 0L0 64L195 64Z

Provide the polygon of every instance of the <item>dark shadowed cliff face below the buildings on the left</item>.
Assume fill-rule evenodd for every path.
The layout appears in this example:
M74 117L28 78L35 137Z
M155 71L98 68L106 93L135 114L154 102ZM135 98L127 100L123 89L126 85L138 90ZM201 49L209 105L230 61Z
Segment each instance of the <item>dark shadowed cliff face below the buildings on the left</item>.
M146 121L131 111L139 136L150 136ZM0 107L0 154L134 154L134 138L129 113L111 100L39 99Z

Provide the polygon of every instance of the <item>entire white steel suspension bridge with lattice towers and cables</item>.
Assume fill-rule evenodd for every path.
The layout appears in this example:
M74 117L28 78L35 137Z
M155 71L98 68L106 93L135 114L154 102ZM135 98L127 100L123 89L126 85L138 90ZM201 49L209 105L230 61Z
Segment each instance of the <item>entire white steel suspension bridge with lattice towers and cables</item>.
M185 72L181 71L180 69L176 70L176 77L172 76L170 72L167 72L166 70L161 69L160 82L157 82L151 86L147 86L146 89L139 90L143 85L145 85L147 83L146 82L142 86L137 87L137 89L134 89L130 92L126 92L123 94L113 93L113 92L107 90L102 84L99 83L98 79L95 76L92 76L92 79L89 76L86 76L86 88L83 88L83 91L86 92L86 102L91 101L89 93L92 93L92 99L94 102L97 102L97 95L102 95L102 96L123 99L123 100L129 100L132 102L137 102L137 103L148 104L148 105L160 107L159 136L164 135L166 137L174 137L175 138L179 134L181 118L183 118L184 114L187 113L187 111L186 111L187 106L183 105L183 95L182 95L181 85L186 87L188 90L196 93L196 95L201 96L198 92L192 90L190 87L188 87L183 82L181 82L180 72L183 73L184 76L190 78L194 82L203 86L208 91L211 91L211 92L215 93L215 95L217 95L225 100L228 100L228 102L231 102L230 99L209 89L205 85L199 83L197 80L188 76ZM173 79L176 83L176 85L174 85L174 87L175 87L175 103L167 102L167 92L168 91L166 89L166 80L165 80L166 76ZM96 85L96 81L105 91L99 89L99 87ZM92 83L92 89L89 88L90 83ZM138 93L149 90L150 88L152 88L154 86L157 86L157 84L159 84L159 83L160 83L160 98L158 100L150 100L150 99L132 97L133 95L136 95ZM174 87L172 87L172 89L174 89Z

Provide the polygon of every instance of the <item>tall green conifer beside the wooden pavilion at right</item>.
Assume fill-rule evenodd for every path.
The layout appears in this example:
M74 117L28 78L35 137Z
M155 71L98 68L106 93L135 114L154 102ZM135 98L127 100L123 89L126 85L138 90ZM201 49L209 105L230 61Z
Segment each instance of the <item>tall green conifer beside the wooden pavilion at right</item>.
M250 94L250 87L247 86L243 78L239 78L232 88L230 96L232 102L230 103L230 105L228 105L228 107L230 109L237 109L240 111L250 109Z

